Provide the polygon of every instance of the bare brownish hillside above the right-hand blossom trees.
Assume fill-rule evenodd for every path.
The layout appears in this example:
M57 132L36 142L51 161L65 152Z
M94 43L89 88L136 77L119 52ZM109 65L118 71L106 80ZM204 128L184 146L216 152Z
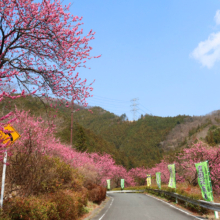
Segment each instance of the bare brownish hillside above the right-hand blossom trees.
M187 147L197 140L213 146L220 144L220 110L205 116L186 117L171 130L160 145L165 151L170 151Z

